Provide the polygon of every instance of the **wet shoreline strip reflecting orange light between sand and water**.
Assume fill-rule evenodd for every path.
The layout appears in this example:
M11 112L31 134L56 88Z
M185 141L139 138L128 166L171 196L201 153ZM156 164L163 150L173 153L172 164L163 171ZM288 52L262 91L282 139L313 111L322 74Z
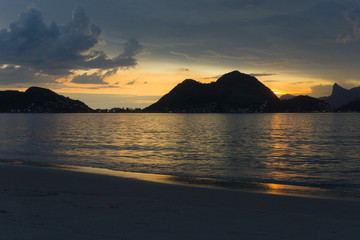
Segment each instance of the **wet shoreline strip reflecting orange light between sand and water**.
M187 177L176 175L126 172L120 170L112 170L106 168L85 167L77 165L65 165L58 163L43 163L23 160L5 160L0 159L0 165L16 165L16 166L33 166L41 168L52 168L74 172L100 174L119 178L129 178L141 181L149 181L163 184L174 184L193 186L200 188L214 188L224 190L234 190L243 192L254 192L261 194L274 194L284 196L295 196L305 198L324 198L338 200L360 201L360 195L355 192L345 190L326 189L321 187L310 187L300 185L289 185L279 183L261 183L261 182L240 182L226 181L215 178Z

